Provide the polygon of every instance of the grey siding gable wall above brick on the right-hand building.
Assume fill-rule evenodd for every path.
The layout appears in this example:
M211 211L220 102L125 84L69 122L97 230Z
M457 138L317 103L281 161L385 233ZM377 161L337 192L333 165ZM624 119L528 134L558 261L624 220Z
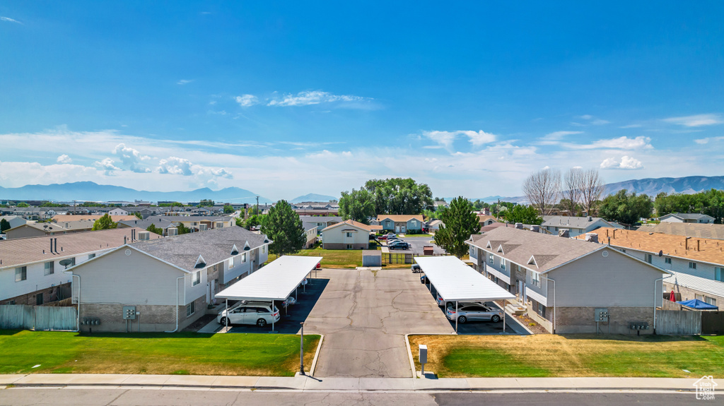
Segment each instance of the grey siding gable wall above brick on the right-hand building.
M661 281L665 276L647 264L621 254L597 251L547 274L555 280L556 306L642 306L653 309L662 301Z

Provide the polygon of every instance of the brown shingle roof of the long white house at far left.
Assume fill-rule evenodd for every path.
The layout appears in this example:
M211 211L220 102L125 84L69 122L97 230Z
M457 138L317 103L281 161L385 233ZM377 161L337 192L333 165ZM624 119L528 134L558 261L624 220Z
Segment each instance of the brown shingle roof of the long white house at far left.
M125 241L131 241L131 233L135 230L135 237L143 231L140 228L114 228L112 230L87 231L84 233L59 234L56 236L42 236L30 238L15 238L0 241L0 269L16 267L18 265L45 262L51 259L75 256L86 252L101 251L122 246ZM124 237L126 238L124 240ZM151 233L151 238L162 238ZM51 253L51 239L56 239Z

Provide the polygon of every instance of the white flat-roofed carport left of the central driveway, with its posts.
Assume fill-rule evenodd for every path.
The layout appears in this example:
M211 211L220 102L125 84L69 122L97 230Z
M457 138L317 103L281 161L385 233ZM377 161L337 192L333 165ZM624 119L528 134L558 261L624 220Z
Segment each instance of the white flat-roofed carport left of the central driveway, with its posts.
M229 299L271 302L271 308L274 309L274 302L285 301L292 292L295 292L321 259L321 256L281 256L229 288L216 293L216 297L226 299L227 311ZM274 317L271 318L271 331L274 331Z

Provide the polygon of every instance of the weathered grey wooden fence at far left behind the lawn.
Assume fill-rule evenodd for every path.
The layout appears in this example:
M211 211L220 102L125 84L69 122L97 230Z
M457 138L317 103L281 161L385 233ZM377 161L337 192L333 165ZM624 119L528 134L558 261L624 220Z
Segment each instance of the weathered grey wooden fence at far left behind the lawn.
M74 330L77 327L75 306L0 306L0 329Z

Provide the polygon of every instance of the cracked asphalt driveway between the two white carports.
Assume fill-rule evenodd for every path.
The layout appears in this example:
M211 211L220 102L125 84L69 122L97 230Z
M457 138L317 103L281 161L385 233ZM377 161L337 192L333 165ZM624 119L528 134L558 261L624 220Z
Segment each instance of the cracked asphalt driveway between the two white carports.
M305 332L324 335L315 376L410 377L405 334L451 333L410 269L324 269L327 287Z

